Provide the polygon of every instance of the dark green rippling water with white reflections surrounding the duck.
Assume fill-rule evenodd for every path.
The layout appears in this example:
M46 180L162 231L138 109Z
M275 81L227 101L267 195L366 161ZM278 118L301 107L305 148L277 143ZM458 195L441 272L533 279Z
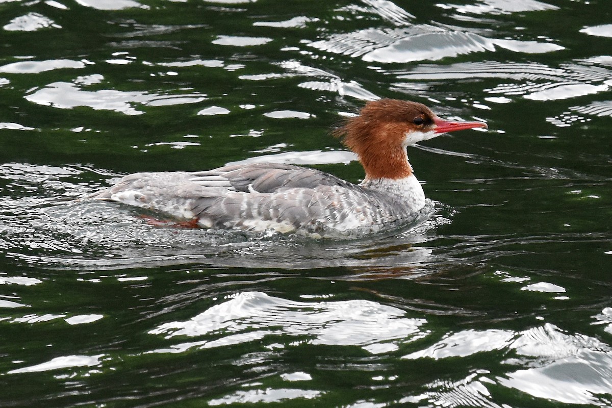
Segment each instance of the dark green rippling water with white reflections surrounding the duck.
M0 0L1 407L612 406L606 0ZM353 241L70 204L267 159L394 97L435 213Z

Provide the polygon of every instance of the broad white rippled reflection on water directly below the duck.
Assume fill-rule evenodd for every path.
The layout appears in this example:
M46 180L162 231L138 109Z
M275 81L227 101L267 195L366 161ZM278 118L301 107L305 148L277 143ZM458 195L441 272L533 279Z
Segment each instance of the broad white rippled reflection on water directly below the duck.
M169 322L149 333L163 334L166 338L224 336L217 341L177 344L156 352L185 351L192 346L208 348L283 335L308 344L361 346L369 351L368 346L373 344L406 343L424 336L420 326L425 322L425 319L406 317L406 312L398 308L367 300L296 302L262 292L242 292L188 321Z

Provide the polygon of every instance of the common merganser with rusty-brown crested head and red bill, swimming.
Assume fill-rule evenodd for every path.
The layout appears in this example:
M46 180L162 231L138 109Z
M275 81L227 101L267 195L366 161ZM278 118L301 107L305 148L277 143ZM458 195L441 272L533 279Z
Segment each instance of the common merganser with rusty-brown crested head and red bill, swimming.
M365 169L359 185L316 169L256 163L130 174L89 198L153 210L203 228L315 236L376 232L413 220L425 207L406 146L469 128L486 129L487 124L446 121L422 103L375 100L333 132Z

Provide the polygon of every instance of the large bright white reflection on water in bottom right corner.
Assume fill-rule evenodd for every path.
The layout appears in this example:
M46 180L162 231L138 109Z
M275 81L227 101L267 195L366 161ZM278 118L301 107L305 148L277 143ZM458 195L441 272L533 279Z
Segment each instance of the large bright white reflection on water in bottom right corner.
M411 401L428 399L433 406L462 406L459 401L476 402L474 406L496 406L490 401L487 387L501 385L515 388L535 398L551 399L567 404L608 406L600 395L612 393L612 349L598 339L562 332L545 324L524 332L510 330L465 330L454 333L438 343L406 355L405 358L468 357L479 353L505 351L510 356L504 362L520 367L504 376L486 376L486 370L455 383L430 384L434 390ZM483 388L484 387L484 388ZM459 397L459 393L463 396ZM483 397L486 397L482 401Z

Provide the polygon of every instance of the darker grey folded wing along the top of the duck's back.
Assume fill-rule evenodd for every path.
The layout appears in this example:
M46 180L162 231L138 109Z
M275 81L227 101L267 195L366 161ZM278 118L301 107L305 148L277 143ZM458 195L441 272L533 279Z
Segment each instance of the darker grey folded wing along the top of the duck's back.
M245 193L274 193L287 188L315 188L321 185L353 186L323 171L280 163L233 165L191 174L193 177L190 180L203 187L223 187Z

